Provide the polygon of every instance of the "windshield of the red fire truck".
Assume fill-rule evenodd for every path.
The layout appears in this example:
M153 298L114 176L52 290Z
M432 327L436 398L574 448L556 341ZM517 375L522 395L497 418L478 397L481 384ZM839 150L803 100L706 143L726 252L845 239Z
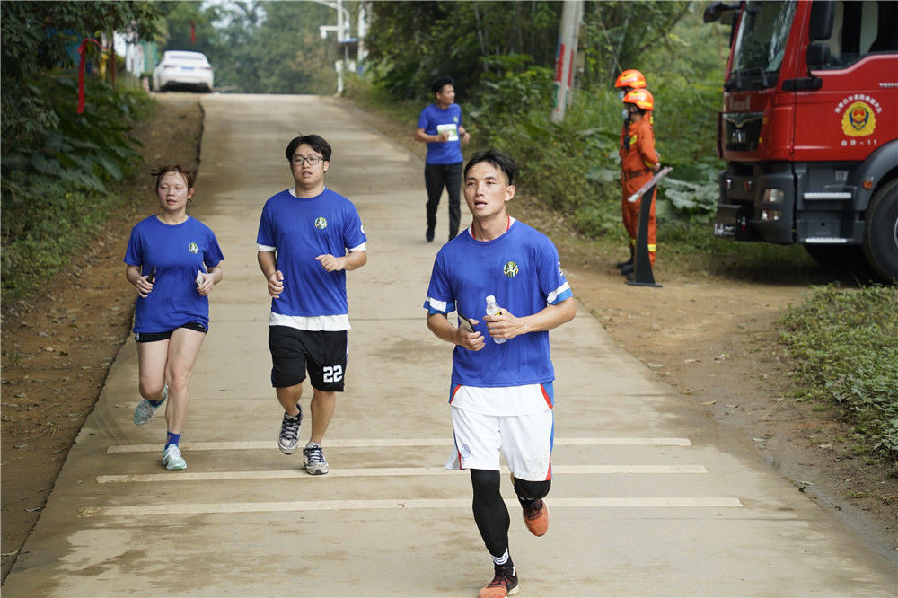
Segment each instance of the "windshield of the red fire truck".
M777 84L795 9L795 0L745 3L735 35L727 90L762 89Z

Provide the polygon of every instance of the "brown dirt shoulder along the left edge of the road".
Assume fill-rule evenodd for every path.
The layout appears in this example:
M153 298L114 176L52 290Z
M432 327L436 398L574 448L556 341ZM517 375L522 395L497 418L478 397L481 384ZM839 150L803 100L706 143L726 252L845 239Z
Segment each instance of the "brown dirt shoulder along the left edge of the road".
M154 118L134 131L145 165L127 182L128 206L110 215L105 232L48 280L40 296L3 302L3 580L128 339L136 295L122 259L131 227L158 207L149 171L163 163L198 164L203 121L197 97L160 100Z

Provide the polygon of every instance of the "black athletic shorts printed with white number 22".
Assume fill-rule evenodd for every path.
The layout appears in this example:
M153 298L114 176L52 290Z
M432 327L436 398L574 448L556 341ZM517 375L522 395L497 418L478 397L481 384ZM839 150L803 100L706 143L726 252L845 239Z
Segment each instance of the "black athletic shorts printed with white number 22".
M271 385L295 386L308 370L313 388L342 392L346 374L348 335L346 330L298 330L269 326Z

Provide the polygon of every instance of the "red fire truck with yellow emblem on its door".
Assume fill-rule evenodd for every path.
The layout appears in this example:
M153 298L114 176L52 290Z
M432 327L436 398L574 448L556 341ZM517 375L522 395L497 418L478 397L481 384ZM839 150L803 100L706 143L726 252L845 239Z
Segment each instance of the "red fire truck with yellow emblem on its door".
M714 234L898 279L898 2L716 3L731 22Z

